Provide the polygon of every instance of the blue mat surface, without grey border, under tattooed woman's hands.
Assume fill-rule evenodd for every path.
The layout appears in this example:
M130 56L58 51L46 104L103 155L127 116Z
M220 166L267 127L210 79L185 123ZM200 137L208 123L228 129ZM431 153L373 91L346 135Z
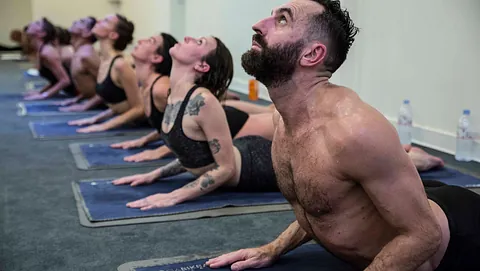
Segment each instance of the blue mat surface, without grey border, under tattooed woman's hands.
M90 221L109 221L150 216L173 215L195 211L219 209L230 206L258 206L286 204L283 195L277 193L239 193L214 191L195 200L176 206L141 211L126 207L131 201L142 199L157 193L169 193L181 188L195 178L188 173L166 178L151 185L131 187L115 186L112 180L77 182L78 189Z

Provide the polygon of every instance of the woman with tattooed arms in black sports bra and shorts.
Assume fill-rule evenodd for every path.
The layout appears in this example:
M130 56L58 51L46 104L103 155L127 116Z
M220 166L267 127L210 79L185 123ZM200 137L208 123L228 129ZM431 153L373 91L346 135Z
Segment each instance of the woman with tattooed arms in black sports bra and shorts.
M153 172L115 180L148 184L189 171L197 179L168 194L156 194L127 206L148 210L179 204L220 187L237 191L278 191L271 159L271 141L248 136L232 142L219 97L233 78L233 60L214 37L185 41L170 49L171 93L161 127L162 139L177 159Z

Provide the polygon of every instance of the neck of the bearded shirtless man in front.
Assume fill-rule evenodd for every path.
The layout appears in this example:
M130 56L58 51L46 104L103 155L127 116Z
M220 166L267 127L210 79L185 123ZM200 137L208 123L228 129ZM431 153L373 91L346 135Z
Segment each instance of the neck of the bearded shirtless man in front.
M315 103L314 95L323 85L329 84L329 79L327 74L306 75L297 72L290 81L268 89L285 129L293 131L308 120L310 105Z

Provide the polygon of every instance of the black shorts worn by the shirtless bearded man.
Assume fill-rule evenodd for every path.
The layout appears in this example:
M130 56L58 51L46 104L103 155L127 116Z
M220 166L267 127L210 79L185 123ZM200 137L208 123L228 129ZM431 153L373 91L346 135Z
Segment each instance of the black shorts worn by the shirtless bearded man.
M430 200L447 216L450 242L436 271L479 271L480 195L459 187L425 187Z

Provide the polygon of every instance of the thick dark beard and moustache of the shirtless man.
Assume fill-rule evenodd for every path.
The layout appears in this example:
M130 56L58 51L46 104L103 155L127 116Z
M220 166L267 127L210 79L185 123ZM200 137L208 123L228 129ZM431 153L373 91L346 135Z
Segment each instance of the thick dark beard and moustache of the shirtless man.
M244 53L242 67L267 88L279 87L292 79L304 43L299 40L268 47L261 36L257 35L254 40L260 45L261 51L251 49Z

